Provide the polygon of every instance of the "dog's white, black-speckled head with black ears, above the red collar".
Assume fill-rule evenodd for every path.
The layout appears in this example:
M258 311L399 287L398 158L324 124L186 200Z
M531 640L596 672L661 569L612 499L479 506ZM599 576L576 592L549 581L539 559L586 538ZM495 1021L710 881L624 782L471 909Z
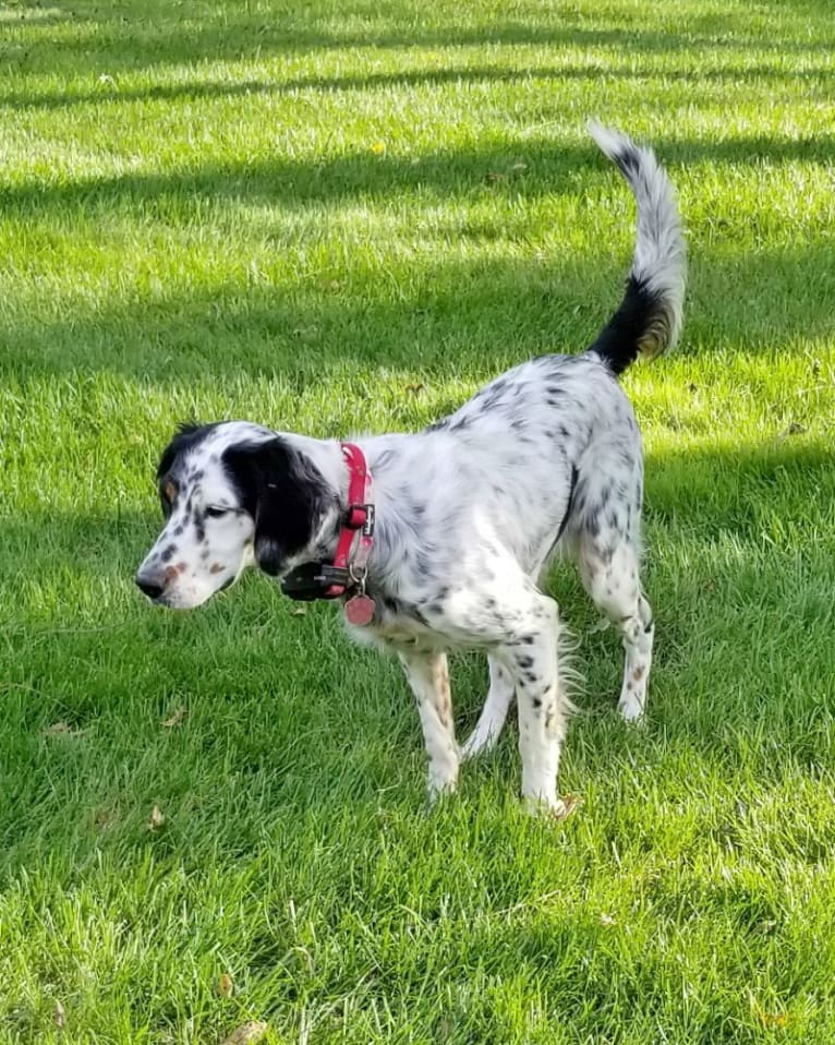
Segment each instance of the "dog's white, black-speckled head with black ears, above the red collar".
M317 534L335 497L313 461L254 424L182 425L157 469L165 526L136 574L160 605L190 610L245 566L286 573Z

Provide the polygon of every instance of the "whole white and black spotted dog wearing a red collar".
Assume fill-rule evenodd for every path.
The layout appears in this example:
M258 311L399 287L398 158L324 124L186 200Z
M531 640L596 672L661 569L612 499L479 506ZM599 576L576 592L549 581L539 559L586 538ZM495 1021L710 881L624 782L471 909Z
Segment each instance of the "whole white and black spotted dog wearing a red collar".
M537 579L558 549L577 561L622 636L620 711L640 718L653 645L639 577L643 461L617 376L675 343L686 277L674 192L653 153L596 124L591 133L638 204L626 293L591 348L523 363L414 434L346 444L244 421L183 427L158 470L165 528L136 576L178 609L251 564L297 598L340 599L354 636L402 661L432 795L496 742L516 695L522 795L557 814L570 702L557 604ZM489 692L459 747L447 651L462 648L486 651Z

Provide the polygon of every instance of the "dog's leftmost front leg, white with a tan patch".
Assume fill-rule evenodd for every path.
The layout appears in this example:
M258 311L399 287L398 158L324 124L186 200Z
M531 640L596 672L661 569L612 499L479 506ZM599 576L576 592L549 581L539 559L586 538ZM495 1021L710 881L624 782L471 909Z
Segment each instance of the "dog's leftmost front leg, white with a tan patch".
M458 784L458 746L452 722L449 669L446 653L401 652L400 660L423 726L429 757L429 800L455 791Z

